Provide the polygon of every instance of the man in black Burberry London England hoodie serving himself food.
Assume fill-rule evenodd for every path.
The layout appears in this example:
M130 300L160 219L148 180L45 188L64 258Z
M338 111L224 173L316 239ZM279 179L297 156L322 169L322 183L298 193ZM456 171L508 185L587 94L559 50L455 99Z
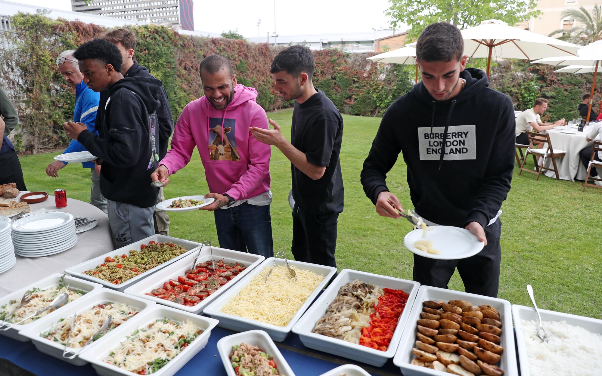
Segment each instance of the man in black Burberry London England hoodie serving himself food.
M399 218L396 208L402 205L385 178L402 152L417 214L427 224L465 227L485 242L480 253L466 259L414 254L414 280L447 288L457 267L467 292L495 297L501 259L498 216L514 168L514 106L488 87L482 70L465 69L464 41L456 26L427 26L416 54L423 81L386 110L361 182L379 215Z

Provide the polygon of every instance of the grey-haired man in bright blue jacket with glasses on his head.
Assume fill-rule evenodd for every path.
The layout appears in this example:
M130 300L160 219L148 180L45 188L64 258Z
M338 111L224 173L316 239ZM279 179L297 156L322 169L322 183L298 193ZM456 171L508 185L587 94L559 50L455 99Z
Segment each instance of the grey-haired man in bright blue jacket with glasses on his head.
M73 122L83 123L88 131L98 135L95 129L96 111L100 94L95 93L84 84L84 75L79 72L78 61L73 57L75 50L67 50L60 54L56 63L61 75L67 81L70 87L75 88L75 109L73 111ZM76 140L71 140L64 153L85 152L85 147ZM51 177L58 177L58 170L65 167L66 162L54 161L46 167L46 174ZM98 171L95 169L94 162L82 162L83 168L90 168L92 178L92 189L90 190L90 203L96 208L101 209L107 214L107 199L102 196L101 185L99 183Z

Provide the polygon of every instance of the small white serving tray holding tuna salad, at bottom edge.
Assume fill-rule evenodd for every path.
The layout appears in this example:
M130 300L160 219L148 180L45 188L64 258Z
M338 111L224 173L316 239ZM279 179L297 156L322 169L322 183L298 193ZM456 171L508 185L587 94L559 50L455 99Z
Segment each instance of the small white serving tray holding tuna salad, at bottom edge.
M226 374L228 376L236 376L232 363L230 362L230 353L232 352L232 346L246 343L263 349L264 353L273 357L276 362L276 367L280 374L286 376L295 376L293 369L288 365L287 360L284 359L278 347L272 338L265 333L263 330L248 330L242 333L231 334L230 336L222 337L217 341L217 351L220 353ZM338 375L337 375L338 376Z

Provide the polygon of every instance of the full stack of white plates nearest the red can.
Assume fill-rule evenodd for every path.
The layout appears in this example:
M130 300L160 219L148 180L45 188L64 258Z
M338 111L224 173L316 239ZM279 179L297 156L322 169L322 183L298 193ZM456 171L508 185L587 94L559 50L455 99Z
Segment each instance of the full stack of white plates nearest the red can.
M13 223L14 250L19 256L49 256L76 242L75 221L69 213L34 214Z

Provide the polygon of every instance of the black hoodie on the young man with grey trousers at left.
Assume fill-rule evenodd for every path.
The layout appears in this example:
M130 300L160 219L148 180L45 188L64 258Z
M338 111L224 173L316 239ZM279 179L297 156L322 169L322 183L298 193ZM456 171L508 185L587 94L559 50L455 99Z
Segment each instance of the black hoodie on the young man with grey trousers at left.
M160 91L155 78L120 79L108 88L103 116L97 116L100 136L87 130L79 134L85 149L102 159L101 192L108 200L141 208L157 203L159 188L151 186L151 173L159 161L152 150L158 132L151 123Z

